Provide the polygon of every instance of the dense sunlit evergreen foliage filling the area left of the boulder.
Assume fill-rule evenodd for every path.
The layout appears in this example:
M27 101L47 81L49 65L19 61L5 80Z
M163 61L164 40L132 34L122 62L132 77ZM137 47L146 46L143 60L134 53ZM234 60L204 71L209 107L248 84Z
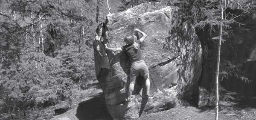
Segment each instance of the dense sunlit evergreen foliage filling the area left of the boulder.
M0 114L44 108L61 100L71 105L73 89L85 89L95 76L91 48L95 3L0 3Z

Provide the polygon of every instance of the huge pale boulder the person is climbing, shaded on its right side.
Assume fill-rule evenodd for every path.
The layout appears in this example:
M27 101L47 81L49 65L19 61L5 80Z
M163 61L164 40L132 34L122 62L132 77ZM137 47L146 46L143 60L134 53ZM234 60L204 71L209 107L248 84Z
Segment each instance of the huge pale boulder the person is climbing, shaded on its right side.
M108 14L99 25L101 40L94 40L96 77L105 94L113 119L138 117L171 109L198 93L201 74L201 45L194 29L178 17L178 9L160 3L143 3L116 14ZM148 37L141 44L150 74L151 97L145 97L145 80L137 77L131 102L124 103L130 84L130 67L125 52L105 51L124 46L124 37L140 29Z

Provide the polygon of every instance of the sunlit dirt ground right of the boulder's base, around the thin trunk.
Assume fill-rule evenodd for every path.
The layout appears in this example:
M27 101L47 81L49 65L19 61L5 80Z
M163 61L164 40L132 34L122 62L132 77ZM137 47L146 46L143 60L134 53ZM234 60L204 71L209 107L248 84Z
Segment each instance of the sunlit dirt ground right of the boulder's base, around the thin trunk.
M167 111L141 116L136 120L215 120L215 110L177 106ZM226 106L225 109L219 111L218 120L256 120L256 109L255 107L239 109Z

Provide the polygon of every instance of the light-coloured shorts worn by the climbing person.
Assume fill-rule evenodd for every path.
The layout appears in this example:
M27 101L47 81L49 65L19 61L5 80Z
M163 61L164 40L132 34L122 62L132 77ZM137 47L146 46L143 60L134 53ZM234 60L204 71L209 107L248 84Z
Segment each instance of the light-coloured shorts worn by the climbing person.
M148 75L148 67L145 64L144 60L140 61L135 61L131 64L131 69L130 69L130 76L136 76L138 77L139 74L141 76L146 76Z

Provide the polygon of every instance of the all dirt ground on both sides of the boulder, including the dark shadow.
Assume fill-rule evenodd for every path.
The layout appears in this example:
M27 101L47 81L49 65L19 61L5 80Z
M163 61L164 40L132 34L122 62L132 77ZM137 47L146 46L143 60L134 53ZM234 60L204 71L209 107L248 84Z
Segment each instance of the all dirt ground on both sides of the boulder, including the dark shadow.
M54 116L50 120L112 120L108 113L102 90L92 87L84 91L87 98L74 103L73 109ZM256 120L256 97L236 94L232 101L220 101L218 120ZM62 119L61 119L62 118ZM180 106L144 114L132 120L215 120L215 108L198 109L194 106Z

